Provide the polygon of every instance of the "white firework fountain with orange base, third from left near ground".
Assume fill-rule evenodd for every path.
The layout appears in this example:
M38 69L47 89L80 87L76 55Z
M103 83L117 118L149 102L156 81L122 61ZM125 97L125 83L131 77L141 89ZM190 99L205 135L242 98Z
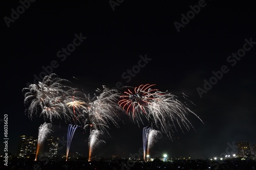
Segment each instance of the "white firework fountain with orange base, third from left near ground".
M92 130L89 136L89 159L91 161L92 153L95 148L97 148L101 143L104 143L104 140L99 140L99 136L102 133L99 130Z

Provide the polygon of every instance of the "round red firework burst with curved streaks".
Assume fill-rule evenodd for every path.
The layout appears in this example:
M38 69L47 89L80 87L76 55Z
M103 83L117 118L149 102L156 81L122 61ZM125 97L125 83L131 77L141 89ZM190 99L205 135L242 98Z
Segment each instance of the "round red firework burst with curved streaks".
M129 112L133 113L134 117L136 111L142 111L146 114L145 108L148 103L154 100L153 94L157 91L157 89L150 88L154 85L155 84L142 84L139 87L135 87L134 90L127 89L127 91L124 91L124 95L120 96L121 100L118 102L119 106L122 107L127 114L129 114Z

